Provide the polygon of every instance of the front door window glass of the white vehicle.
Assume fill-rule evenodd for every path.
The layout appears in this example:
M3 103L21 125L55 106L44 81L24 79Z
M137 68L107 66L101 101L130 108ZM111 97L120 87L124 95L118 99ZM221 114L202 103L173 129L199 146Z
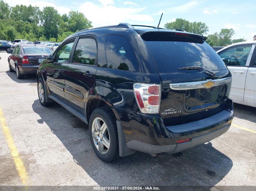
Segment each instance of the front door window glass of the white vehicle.
M251 46L251 44L235 46L219 53L219 56L227 66L245 66Z

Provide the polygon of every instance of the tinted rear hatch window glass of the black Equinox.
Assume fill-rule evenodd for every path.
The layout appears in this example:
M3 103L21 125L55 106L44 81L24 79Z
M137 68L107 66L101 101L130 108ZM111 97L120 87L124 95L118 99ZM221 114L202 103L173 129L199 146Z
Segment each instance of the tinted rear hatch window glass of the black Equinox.
M203 40L184 38L184 42L181 37L178 38L178 41L175 41L175 37L167 41L145 41L159 73L194 71L178 70L185 66L201 66L211 71L227 69L214 49Z

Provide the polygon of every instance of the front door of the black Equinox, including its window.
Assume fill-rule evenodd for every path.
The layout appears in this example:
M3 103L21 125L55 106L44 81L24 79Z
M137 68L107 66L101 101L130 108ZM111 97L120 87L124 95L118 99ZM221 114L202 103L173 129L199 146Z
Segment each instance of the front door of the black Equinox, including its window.
M64 95L65 69L68 65L75 39L62 45L55 53L53 63L47 68L47 82L50 93L66 103Z

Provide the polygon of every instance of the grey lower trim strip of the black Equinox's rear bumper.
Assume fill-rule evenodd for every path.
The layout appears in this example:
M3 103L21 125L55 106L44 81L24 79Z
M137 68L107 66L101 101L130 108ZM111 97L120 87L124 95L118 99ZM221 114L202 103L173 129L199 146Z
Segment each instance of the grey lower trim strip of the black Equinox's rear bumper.
M175 145L164 145L164 146L150 145L150 144L140 142L137 140L131 140L131 141L127 142L126 145L128 148L130 148L132 150L141 151L141 152L148 153L148 154L177 153L177 152L189 149L189 148L193 148L198 145L202 145L205 142L211 141L214 138L219 137L220 135L222 135L223 133L228 131L230 126L231 126L231 124L226 125L226 126L221 127L220 129L217 129L213 132L210 132L210 133L198 136L198 137L191 138L191 141L177 143Z

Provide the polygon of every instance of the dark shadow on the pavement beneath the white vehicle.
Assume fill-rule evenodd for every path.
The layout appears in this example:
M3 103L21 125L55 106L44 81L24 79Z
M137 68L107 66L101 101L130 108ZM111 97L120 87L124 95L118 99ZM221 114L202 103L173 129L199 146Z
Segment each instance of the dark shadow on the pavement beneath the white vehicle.
M234 115L239 119L256 123L256 107L234 103Z

